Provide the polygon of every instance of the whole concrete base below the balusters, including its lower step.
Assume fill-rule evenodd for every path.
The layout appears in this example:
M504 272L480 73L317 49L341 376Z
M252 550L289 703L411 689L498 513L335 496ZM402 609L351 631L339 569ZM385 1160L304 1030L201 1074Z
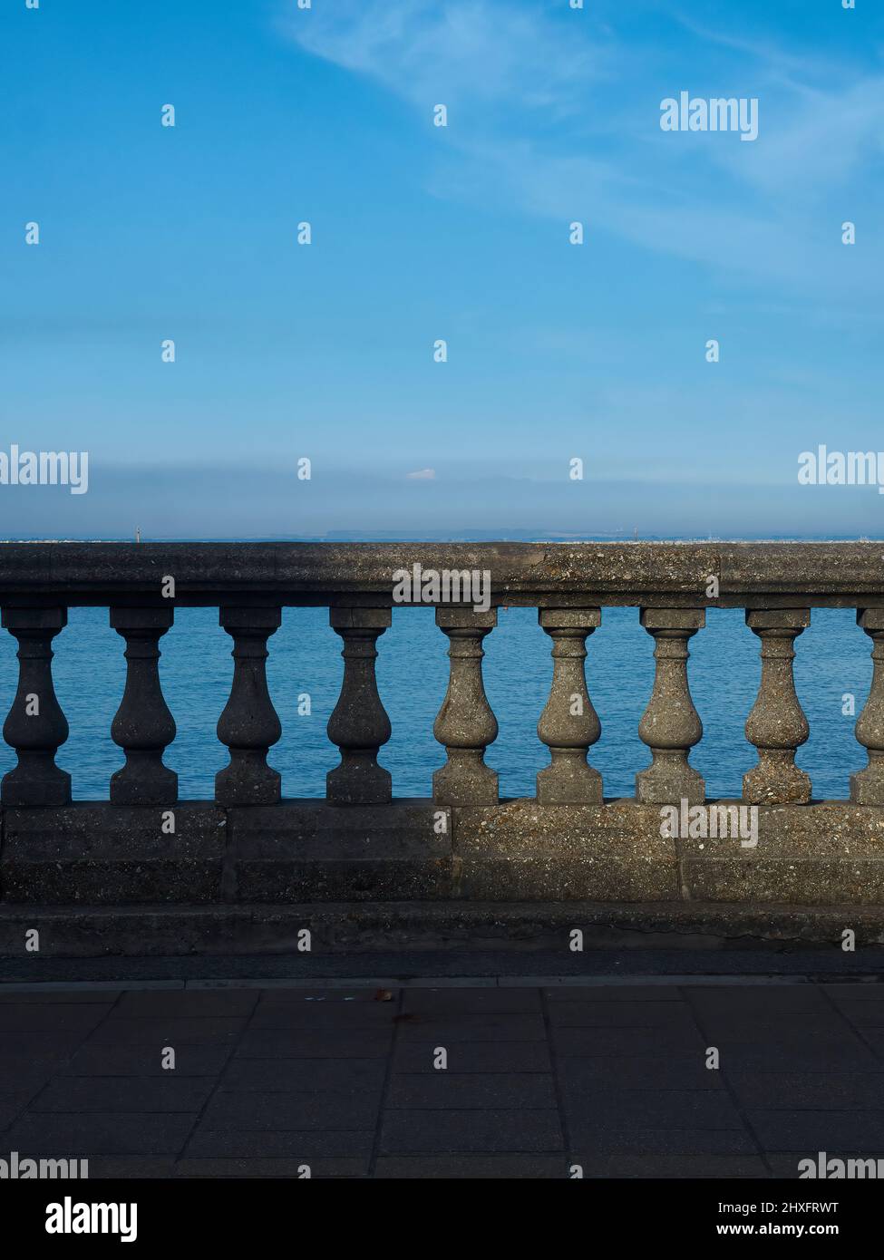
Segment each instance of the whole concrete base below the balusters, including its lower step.
M8 809L0 955L42 926L47 956L324 949L560 948L662 934L884 942L884 810L762 806L758 843L663 838L658 806L441 809L323 801L168 813L108 804ZM620 941L622 944L622 941Z

